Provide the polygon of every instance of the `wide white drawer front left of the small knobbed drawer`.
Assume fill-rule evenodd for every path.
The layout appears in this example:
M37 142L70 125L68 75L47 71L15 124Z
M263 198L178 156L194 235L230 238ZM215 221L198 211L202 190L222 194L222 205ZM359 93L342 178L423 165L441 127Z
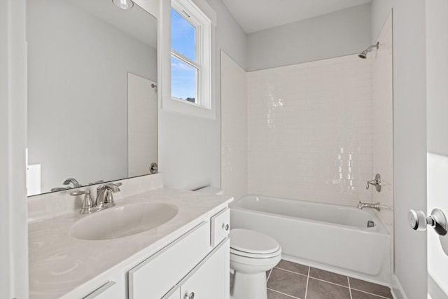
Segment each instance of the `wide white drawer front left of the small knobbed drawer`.
M209 252L209 225L202 222L129 271L130 299L160 299Z

